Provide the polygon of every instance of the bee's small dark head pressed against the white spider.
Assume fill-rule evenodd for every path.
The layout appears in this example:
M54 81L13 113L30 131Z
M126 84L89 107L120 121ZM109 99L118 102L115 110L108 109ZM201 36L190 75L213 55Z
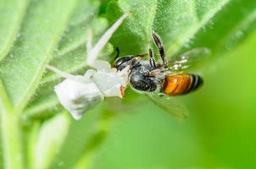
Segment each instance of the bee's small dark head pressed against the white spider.
M129 65L133 65L136 62L136 60L137 59L134 56L117 58L114 62L114 68L116 68L118 71L121 71Z

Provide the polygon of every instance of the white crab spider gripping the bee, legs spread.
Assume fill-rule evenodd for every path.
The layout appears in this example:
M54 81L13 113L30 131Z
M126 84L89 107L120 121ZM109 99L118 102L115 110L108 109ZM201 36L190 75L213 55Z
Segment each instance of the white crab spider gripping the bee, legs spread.
M76 120L79 120L87 110L97 106L99 102L103 101L104 97L119 96L123 98L128 83L129 68L117 71L116 68L111 68L109 62L97 60L97 55L129 14L129 12L123 14L93 47L92 31L89 31L86 42L86 64L92 69L88 69L86 74L68 74L47 65L48 69L65 78L63 82L54 87L54 90L61 105Z

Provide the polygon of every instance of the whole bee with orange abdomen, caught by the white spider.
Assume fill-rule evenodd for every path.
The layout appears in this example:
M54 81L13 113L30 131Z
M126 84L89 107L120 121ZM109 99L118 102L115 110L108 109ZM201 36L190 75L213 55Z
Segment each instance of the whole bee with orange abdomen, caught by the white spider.
M177 101L171 101L170 96L186 95L203 85L203 79L198 74L182 71L209 56L210 50L206 47L194 48L167 61L163 42L154 31L152 39L159 50L161 63L156 63L153 50L149 47L149 60L143 59L145 55L120 57L116 59L114 68L122 71L129 66L128 79L133 90L147 94L154 103L176 117L185 118L188 112L186 107Z

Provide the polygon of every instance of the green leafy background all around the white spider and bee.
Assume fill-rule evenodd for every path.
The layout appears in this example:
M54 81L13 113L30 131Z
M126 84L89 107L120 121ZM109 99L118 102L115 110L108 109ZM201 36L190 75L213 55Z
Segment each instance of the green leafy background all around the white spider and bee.
M255 8L254 0L0 0L0 164L251 167ZM178 98L191 110L188 122L176 122L131 90L125 101L108 99L79 122L59 105L53 86L62 79L45 65L83 74L87 30L92 28L96 41L107 19L111 25L126 11L131 16L110 41L121 55L147 53L152 30L168 57L196 46L212 50L200 69L203 90ZM112 51L106 46L102 56L111 60Z

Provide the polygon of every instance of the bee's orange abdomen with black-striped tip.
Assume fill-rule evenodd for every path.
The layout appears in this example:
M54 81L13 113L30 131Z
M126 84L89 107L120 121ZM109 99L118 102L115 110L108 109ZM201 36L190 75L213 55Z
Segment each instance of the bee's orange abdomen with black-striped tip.
M163 92L166 95L185 95L203 85L197 74L173 74L164 79Z

